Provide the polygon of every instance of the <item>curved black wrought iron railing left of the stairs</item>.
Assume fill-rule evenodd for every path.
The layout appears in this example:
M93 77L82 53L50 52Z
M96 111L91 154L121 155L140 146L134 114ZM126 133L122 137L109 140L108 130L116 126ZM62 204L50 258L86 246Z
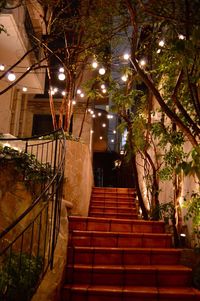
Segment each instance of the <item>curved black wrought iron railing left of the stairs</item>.
M47 170L31 205L0 233L0 300L27 301L48 268L53 267L60 226L65 137L62 130L46 137L9 139L0 143L21 146L23 153ZM8 147L8 146L7 146ZM25 172L23 180L31 185ZM38 188L39 187L39 188ZM1 222L0 222L1 224Z

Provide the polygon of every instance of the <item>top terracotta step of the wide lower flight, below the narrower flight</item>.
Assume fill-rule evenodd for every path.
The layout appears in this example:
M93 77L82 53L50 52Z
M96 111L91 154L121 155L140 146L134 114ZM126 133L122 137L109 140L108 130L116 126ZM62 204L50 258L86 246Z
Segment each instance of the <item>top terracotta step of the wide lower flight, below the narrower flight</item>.
M69 230L164 233L165 224L162 221L69 216Z

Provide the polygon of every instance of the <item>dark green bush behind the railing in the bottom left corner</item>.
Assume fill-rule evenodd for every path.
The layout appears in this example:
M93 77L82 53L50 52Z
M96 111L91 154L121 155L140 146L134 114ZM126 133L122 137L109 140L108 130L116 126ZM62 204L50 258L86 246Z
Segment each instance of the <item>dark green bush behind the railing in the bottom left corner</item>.
M0 299L28 301L42 272L42 257L12 253L0 268Z

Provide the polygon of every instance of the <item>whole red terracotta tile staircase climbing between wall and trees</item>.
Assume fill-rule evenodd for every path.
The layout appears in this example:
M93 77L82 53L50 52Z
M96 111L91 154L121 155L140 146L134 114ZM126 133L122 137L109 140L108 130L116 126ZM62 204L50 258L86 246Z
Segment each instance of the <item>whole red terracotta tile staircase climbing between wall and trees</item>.
M134 190L94 188L89 217L69 217L62 301L200 300L163 222L137 219Z

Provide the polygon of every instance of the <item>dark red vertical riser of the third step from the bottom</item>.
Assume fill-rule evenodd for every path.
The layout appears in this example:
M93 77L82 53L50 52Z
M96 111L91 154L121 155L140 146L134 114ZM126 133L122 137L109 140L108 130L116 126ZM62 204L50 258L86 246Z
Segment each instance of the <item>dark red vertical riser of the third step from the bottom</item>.
M111 251L106 250L75 250L68 248L68 263L73 264L102 264L102 265L176 265L179 264L180 255L162 254L159 252Z

